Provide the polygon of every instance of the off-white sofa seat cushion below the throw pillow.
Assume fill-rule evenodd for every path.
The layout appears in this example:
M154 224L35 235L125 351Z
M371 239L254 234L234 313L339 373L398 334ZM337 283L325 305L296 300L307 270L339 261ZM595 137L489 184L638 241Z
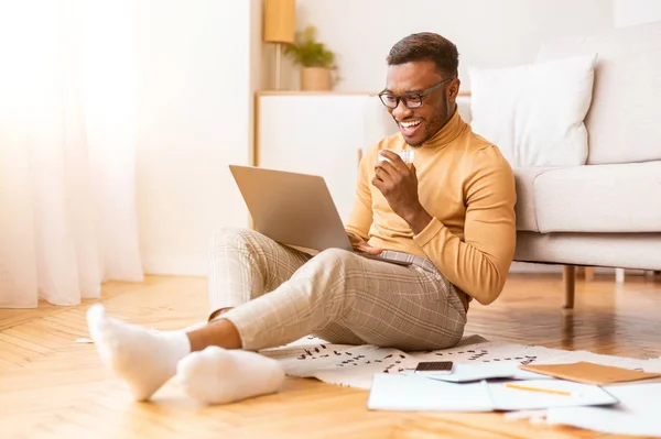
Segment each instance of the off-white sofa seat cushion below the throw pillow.
M573 166L534 180L540 232L661 232L661 162Z

